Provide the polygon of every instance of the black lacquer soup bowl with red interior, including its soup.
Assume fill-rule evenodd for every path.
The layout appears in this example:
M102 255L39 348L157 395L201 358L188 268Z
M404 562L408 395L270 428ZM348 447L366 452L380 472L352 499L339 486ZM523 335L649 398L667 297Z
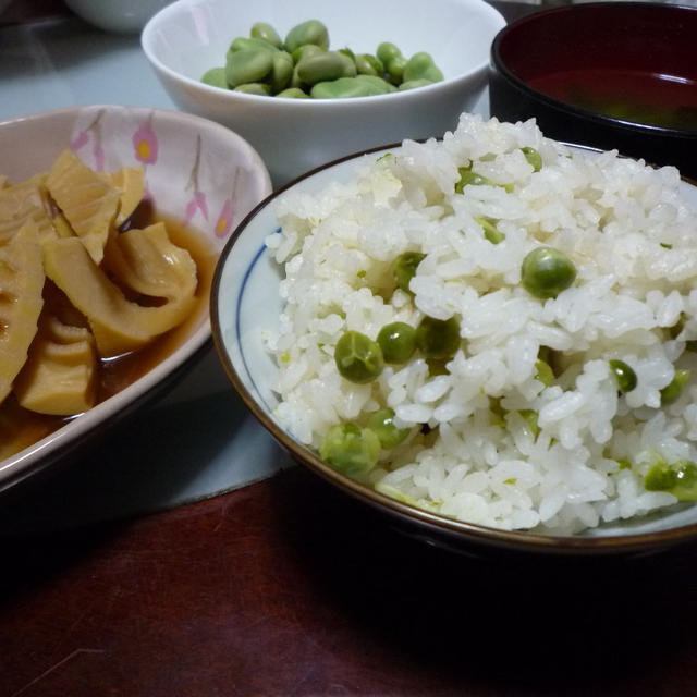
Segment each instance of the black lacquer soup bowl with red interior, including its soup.
M537 12L491 47L491 114L697 178L697 8L597 2Z

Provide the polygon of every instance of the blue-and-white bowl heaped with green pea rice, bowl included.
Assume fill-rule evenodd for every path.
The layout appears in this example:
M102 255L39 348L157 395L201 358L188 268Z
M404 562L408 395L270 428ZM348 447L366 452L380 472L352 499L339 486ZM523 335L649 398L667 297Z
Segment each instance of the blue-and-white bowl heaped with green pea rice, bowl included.
M463 113L260 204L211 318L270 433L419 537L697 537L697 188L673 167Z

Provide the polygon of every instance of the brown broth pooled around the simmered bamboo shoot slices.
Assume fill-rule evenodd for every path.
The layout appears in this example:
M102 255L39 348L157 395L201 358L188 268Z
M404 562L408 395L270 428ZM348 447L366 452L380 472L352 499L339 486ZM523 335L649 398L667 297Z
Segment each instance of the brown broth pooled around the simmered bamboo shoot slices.
M133 227L145 227L158 220L167 225L170 240L185 248L196 262L198 271L196 306L184 322L158 337L148 345L117 358L102 359L97 367L97 404L129 387L174 353L208 313L217 253L201 234L161 213L140 209L133 217ZM80 415L49 416L29 412L21 407L10 394L0 404L0 460L28 448L74 418L80 418Z

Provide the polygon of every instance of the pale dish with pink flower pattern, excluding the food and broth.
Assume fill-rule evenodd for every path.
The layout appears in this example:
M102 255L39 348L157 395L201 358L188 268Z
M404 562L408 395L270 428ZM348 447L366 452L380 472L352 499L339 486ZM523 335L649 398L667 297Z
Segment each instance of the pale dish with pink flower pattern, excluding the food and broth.
M269 173L246 140L191 114L98 105L0 122L0 174L13 183L49 169L65 148L97 171L142 164L156 217L164 215L198 233L210 267L234 227L271 192ZM0 492L64 458L193 364L210 340L210 279L201 279L201 309L173 352L121 392L0 460Z

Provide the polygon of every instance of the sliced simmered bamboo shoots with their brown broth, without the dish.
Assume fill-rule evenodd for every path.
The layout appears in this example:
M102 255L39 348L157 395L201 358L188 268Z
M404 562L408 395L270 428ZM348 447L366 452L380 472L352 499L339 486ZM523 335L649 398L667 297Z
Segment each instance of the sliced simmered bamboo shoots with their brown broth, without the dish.
M65 150L0 182L0 460L140 378L207 310L215 252L143 200L136 170Z

